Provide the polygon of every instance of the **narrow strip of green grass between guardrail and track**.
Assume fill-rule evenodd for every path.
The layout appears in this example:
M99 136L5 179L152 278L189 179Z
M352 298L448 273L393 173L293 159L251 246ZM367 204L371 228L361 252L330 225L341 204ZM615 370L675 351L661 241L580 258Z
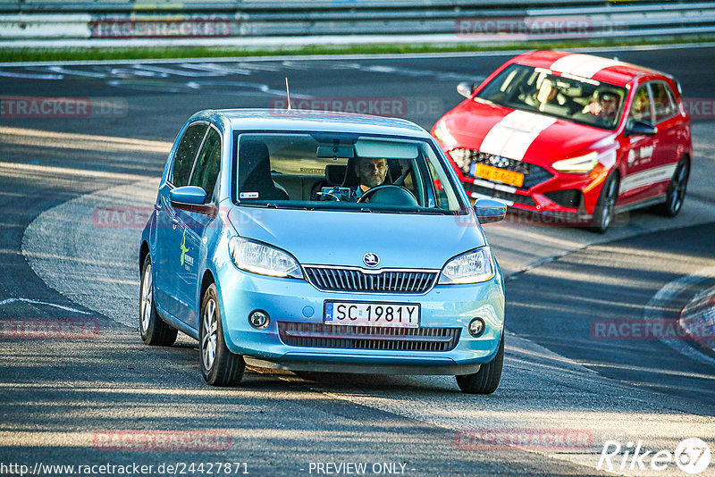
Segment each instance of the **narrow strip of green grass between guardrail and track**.
M479 52L500 50L568 49L584 46L668 45L687 42L715 41L715 35L671 38L627 38L561 41L528 41L513 43L390 44L350 46L302 46L297 48L236 48L225 46L147 46L147 47L81 47L81 48L4 48L0 62L38 62L71 60L129 60L157 58L203 58L233 56L297 54L400 54Z

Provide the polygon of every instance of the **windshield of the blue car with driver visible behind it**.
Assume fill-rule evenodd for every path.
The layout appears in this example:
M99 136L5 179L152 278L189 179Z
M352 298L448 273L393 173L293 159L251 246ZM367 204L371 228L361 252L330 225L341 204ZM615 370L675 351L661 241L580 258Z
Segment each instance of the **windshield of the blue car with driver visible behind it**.
M427 140L327 132L236 137L240 205L393 213L466 213Z

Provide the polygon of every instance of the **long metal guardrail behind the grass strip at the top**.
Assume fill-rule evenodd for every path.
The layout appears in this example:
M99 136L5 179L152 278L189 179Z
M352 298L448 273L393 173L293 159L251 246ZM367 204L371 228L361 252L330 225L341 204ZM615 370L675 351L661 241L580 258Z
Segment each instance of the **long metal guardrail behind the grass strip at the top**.
M715 3L597 0L0 0L3 46L22 40L310 38L340 43L515 41L715 33ZM560 4L558 8L551 5ZM349 38L345 38L349 36ZM371 39L372 42L374 38ZM184 41L185 42L185 41ZM101 41L99 42L101 43ZM109 44L110 42L106 42ZM95 42L97 44L97 42ZM235 44L240 46L240 41Z

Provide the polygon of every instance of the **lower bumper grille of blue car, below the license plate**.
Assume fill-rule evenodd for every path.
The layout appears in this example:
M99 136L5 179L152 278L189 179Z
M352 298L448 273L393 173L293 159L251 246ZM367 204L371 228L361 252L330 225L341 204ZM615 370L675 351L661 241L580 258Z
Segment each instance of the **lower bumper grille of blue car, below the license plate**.
M457 346L459 331L459 328L387 328L278 322L278 334L282 342L294 347L450 351Z

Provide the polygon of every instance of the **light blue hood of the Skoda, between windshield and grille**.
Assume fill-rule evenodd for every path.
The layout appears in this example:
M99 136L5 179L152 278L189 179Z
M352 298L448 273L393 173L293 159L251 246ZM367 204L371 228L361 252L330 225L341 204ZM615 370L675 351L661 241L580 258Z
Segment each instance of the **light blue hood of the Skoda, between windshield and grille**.
M485 245L470 215L359 213L231 207L229 220L245 238L290 252L300 264L441 269L454 255ZM366 268L366 267L365 267Z

